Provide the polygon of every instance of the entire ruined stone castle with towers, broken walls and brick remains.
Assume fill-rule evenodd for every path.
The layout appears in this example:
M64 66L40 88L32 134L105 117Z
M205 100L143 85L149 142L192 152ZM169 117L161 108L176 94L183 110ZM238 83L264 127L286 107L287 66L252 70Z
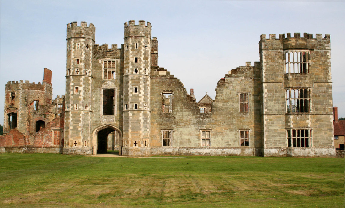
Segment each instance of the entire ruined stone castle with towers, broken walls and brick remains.
M1 152L92 155L335 156L330 35L260 36L259 62L196 102L158 66L151 23L128 21L124 44L95 44L95 26L67 24L66 94L6 84Z

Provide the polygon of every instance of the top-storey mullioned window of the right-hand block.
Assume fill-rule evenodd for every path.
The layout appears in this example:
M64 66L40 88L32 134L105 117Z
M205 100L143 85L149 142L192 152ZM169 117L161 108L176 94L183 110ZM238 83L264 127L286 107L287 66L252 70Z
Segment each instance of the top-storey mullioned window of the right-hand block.
M308 73L309 52L285 52L285 73Z

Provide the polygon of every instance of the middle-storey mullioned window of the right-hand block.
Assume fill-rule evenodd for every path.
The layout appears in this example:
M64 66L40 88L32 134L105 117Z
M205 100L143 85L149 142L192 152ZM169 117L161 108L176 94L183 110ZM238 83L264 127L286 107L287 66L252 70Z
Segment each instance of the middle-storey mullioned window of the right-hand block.
M311 90L288 89L286 90L286 112L308 113L310 112Z

